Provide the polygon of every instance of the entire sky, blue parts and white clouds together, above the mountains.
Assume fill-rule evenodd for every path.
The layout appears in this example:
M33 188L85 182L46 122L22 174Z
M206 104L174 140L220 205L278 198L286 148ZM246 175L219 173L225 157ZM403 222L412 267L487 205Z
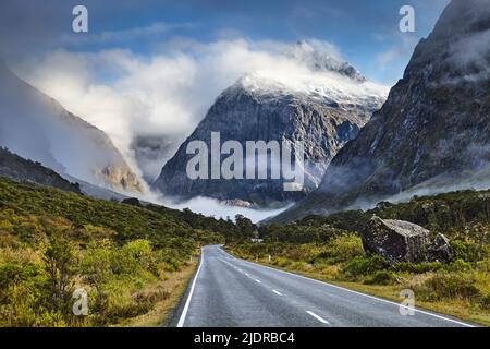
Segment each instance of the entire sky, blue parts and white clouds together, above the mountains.
M0 59L105 131L135 172L151 181L237 79L257 70L304 71L281 56L294 43L316 43L388 91L448 3L1 0ZM72 31L78 4L88 10L88 33ZM415 9L415 33L399 29L399 11L407 4ZM164 146L139 158L138 137Z

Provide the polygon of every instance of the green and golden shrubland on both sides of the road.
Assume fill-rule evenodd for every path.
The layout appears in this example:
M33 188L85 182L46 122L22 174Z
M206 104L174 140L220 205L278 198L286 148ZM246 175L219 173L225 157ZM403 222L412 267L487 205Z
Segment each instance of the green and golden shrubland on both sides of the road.
M432 238L444 233L453 260L390 264L366 254L358 232L373 214L421 225ZM0 178L0 326L160 325L184 292L199 248L215 243L395 301L412 289L416 306L490 325L490 191L257 228L242 216L234 222ZM73 313L77 289L87 292L86 316Z

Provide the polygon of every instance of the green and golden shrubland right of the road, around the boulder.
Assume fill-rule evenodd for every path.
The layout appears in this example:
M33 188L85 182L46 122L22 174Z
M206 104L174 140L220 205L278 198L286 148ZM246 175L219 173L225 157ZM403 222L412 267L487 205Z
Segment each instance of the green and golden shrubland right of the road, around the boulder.
M454 257L450 263L395 263L367 254L359 231L373 215L408 220L444 233ZM310 216L290 225L259 228L262 243L231 244L235 255L402 301L415 292L416 306L490 325L490 192L463 191L380 203L369 212ZM270 256L270 260L269 260Z

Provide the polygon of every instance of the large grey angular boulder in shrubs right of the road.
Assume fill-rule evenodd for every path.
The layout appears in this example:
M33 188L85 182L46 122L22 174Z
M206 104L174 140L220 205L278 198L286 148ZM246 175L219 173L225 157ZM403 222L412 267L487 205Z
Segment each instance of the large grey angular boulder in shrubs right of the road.
M429 230L415 224L373 216L360 231L363 246L390 263L422 262L429 245Z

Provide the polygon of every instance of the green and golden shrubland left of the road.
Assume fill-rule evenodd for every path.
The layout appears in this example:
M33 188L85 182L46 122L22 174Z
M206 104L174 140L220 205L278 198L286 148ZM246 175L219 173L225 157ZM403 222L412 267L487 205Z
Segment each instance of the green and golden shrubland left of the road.
M0 178L0 326L161 324L199 246L246 236L237 221ZM73 313L77 289L86 316Z

